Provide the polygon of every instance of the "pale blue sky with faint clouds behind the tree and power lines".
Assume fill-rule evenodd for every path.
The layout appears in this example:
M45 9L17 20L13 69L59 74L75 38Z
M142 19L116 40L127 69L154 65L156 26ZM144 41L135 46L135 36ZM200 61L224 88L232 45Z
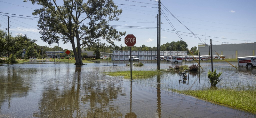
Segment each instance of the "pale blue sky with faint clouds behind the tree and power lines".
M0 0L0 29L7 32L5 28L9 16L12 36L27 34L29 38L37 40L37 45L58 45L49 45L40 39L41 34L37 29L38 18L17 16L38 17L33 16L32 12L41 6L33 5L30 1L22 1ZM156 47L158 0L113 1L123 12L118 17L119 21L112 21L109 25L115 25L117 31L126 31L126 35L133 34L136 37L134 46ZM256 42L255 4L255 0L161 0L161 45L182 40L187 42L190 49L200 43L210 44L210 39L213 45ZM125 36L121 37L121 41L114 41L115 44L126 46ZM60 47L72 50L70 42L63 44L60 41Z

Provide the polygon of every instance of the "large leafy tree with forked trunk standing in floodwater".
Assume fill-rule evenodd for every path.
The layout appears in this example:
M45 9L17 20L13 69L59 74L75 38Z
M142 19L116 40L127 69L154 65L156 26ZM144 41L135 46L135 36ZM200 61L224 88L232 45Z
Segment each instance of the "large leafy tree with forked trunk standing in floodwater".
M76 58L75 65L83 65L81 46L93 46L102 39L115 45L113 41L121 41L120 37L125 35L108 25L110 21L119 20L117 17L122 12L112 0L63 0L62 5L58 5L56 0L29 1L43 6L33 12L33 15L40 17L40 38L49 44L60 39L64 43L70 42Z

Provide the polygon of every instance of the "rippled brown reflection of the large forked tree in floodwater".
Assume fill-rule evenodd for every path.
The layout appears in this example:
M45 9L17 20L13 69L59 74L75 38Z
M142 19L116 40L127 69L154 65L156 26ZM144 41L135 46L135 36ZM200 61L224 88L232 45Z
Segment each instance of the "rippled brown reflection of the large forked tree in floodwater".
M45 86L39 103L39 111L34 112L33 116L41 118L121 117L119 107L110 103L122 94L122 87L105 83L106 81L98 77L98 72L87 72L86 75L90 77L84 76L85 73L83 67L76 66L71 76L73 81L67 83L64 88L58 85Z

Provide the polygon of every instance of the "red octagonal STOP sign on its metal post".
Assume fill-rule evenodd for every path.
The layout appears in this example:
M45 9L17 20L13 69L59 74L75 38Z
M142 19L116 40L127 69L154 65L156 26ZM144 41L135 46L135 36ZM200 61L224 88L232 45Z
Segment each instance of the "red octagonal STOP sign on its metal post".
M132 46L136 44L136 37L133 34L128 34L124 38L124 43L130 47L130 67L131 67L131 80L132 80Z

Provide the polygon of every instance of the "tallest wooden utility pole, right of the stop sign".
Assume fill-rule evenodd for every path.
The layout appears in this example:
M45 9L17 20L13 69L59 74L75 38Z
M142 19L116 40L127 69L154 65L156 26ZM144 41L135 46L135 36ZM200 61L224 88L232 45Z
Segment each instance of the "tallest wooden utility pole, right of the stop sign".
M160 66L160 44L161 44L161 0L158 0L158 39L157 39L157 70L161 70Z

